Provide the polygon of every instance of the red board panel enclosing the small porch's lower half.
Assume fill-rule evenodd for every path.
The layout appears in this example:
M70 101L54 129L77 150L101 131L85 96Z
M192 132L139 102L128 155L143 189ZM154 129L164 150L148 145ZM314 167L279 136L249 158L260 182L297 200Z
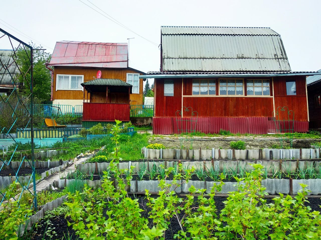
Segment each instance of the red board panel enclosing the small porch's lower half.
M129 103L83 103L82 121L129 121Z

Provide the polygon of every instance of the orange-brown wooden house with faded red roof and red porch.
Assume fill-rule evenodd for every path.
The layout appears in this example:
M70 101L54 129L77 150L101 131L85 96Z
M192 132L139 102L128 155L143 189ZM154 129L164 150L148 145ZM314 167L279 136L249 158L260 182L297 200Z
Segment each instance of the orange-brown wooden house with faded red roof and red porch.
M130 105L143 104L139 76L145 73L128 67L126 43L56 42L49 65L54 67L53 104L83 108L83 126L129 121Z

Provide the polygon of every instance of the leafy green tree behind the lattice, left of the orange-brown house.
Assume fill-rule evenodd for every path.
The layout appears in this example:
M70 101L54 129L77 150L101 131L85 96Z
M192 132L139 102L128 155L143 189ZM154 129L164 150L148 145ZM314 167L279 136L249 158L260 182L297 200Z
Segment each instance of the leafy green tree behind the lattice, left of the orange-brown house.
M35 44L30 44L34 49L41 49L41 46L36 46ZM22 71L22 75L19 77L21 83L24 83L24 79L30 79L30 49L23 47L18 48L16 51L17 64ZM35 98L39 99L41 102L48 101L51 94L51 74L48 68L46 68L45 63L49 61L51 54L45 52L44 50L33 50L33 95ZM25 75L25 78L23 77ZM21 92L23 95L30 95L29 86L24 84L21 87Z

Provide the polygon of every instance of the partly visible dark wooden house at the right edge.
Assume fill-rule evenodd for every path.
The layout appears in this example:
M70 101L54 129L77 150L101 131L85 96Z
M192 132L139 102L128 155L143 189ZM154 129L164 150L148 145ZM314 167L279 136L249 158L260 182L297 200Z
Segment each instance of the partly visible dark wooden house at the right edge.
M321 69L317 72L321 73ZM309 128L321 128L321 75L307 77Z

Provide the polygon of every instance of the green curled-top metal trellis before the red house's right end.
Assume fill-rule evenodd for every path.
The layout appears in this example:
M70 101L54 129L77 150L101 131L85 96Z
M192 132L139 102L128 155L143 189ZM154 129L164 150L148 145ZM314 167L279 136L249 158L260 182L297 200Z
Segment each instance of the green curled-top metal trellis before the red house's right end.
M289 110L287 106L277 107L273 111L273 122L275 126L276 133L284 134L284 137L280 138L280 145L283 148L283 142L289 140L290 147L293 146L293 131L294 131L294 111Z

